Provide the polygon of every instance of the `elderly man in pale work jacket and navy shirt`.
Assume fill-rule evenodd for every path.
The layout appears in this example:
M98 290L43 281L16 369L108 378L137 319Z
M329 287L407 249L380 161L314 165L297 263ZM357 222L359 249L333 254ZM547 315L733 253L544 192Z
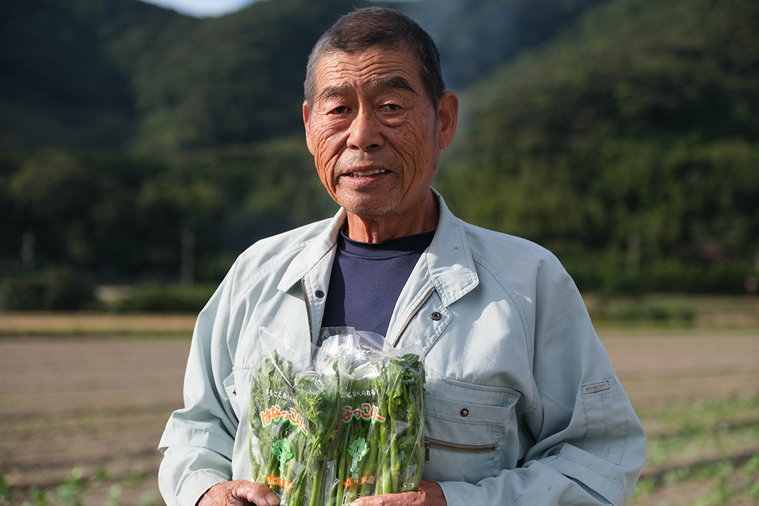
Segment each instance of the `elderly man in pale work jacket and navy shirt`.
M182 410L160 443L168 504L278 504L250 478L254 344L279 322L310 357L320 328L421 341L427 462L414 492L371 504L622 504L645 435L558 260L468 225L430 188L458 99L430 36L366 8L314 46L306 139L334 218L261 240L200 313Z

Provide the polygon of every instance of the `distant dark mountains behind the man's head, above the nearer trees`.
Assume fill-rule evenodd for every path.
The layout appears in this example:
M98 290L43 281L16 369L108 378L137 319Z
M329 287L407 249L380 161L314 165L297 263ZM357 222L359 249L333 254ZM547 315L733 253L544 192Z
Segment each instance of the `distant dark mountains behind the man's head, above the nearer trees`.
M461 88L600 0L390 2ZM136 0L0 3L0 147L168 152L301 130L307 55L367 2L268 0L198 20Z

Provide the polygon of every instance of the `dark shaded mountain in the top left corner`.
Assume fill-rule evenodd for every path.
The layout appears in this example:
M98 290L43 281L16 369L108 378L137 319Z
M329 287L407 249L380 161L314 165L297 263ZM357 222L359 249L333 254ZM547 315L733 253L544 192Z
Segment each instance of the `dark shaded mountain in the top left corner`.
M177 17L124 0L0 3L0 146L123 144L135 61Z

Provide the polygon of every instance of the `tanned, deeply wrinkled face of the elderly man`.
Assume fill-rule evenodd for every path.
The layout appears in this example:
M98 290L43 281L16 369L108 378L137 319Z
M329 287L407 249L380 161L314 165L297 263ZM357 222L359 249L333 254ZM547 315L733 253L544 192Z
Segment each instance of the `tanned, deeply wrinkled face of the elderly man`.
M306 140L329 195L361 217L414 212L452 135L441 140L411 52L328 53L315 77L316 96L310 109L304 104Z

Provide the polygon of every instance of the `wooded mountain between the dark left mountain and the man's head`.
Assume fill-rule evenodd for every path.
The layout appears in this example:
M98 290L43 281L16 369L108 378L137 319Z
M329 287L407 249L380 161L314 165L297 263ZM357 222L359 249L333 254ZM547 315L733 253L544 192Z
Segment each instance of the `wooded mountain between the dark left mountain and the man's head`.
M308 53L354 5L269 0L202 20L138 69L142 121L134 143L206 147L300 131Z

